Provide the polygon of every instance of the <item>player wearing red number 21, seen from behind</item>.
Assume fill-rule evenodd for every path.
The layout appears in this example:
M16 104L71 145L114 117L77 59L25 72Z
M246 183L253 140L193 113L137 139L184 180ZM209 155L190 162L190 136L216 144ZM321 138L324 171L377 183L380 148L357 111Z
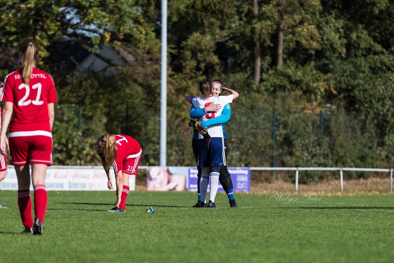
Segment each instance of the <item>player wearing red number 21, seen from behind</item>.
M37 43L23 39L19 43L22 68L9 73L4 81L1 101L4 101L0 151L6 155L9 148L10 162L18 178L18 206L25 227L22 233L43 233L42 224L48 201L45 188L46 168L52 160L52 126L54 103L58 101L52 77L37 68ZM12 121L11 116L13 115ZM9 127L9 144L6 131ZM30 170L34 187L34 213L30 198Z

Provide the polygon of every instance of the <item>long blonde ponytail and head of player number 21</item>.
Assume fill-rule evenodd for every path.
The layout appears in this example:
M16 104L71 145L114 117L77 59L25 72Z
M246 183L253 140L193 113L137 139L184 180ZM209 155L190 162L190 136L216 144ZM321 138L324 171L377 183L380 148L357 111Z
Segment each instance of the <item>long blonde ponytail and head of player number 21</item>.
M38 56L38 46L34 39L26 38L19 42L20 62L22 63L22 80L29 84L30 76Z

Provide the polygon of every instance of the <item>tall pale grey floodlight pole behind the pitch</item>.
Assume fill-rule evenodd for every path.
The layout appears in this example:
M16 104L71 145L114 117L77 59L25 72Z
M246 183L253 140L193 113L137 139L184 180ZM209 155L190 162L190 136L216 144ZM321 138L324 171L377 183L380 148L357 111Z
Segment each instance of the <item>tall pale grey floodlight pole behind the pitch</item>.
M160 68L160 166L167 160L167 0L162 0L162 53Z

